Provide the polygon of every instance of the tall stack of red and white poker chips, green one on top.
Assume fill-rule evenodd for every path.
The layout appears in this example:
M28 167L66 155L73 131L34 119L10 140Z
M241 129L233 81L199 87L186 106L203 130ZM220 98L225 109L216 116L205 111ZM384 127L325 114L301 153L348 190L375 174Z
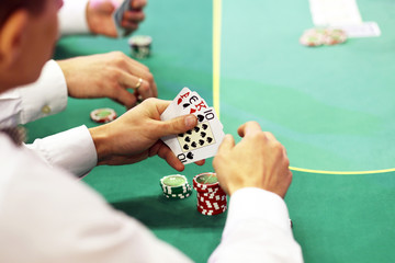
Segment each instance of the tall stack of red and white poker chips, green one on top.
M201 173L194 176L193 188L198 193L198 211L206 216L226 211L226 193L221 188L215 173Z

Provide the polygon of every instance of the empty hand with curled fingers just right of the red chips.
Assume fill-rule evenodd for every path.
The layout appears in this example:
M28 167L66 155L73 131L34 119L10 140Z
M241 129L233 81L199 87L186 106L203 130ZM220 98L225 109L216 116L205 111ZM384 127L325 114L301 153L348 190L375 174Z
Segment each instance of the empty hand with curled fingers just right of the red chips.
M235 145L226 135L213 162L221 186L229 195L242 187L259 187L284 198L292 181L285 148L258 123L246 123L237 132L241 141Z

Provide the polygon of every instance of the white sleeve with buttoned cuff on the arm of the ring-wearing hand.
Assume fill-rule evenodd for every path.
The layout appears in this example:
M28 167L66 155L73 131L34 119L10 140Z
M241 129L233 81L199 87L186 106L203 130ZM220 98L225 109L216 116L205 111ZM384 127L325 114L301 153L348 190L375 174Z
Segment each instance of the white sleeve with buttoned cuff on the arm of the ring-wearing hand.
M20 87L0 95L0 127L26 124L66 108L65 76L54 60L45 64L33 84Z

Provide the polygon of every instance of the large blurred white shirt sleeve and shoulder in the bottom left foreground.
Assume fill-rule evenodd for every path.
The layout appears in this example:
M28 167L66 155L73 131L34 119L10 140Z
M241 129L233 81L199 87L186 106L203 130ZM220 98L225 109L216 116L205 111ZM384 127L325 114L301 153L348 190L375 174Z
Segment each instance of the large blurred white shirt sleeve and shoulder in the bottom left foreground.
M191 262L67 172L0 145L0 262Z

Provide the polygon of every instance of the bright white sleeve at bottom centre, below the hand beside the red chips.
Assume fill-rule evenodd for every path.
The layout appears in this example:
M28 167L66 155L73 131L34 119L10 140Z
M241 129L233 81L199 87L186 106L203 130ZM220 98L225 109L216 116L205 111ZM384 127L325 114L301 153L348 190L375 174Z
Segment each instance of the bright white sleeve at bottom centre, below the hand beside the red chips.
M303 262L284 201L260 188L235 192L222 241L208 262Z

